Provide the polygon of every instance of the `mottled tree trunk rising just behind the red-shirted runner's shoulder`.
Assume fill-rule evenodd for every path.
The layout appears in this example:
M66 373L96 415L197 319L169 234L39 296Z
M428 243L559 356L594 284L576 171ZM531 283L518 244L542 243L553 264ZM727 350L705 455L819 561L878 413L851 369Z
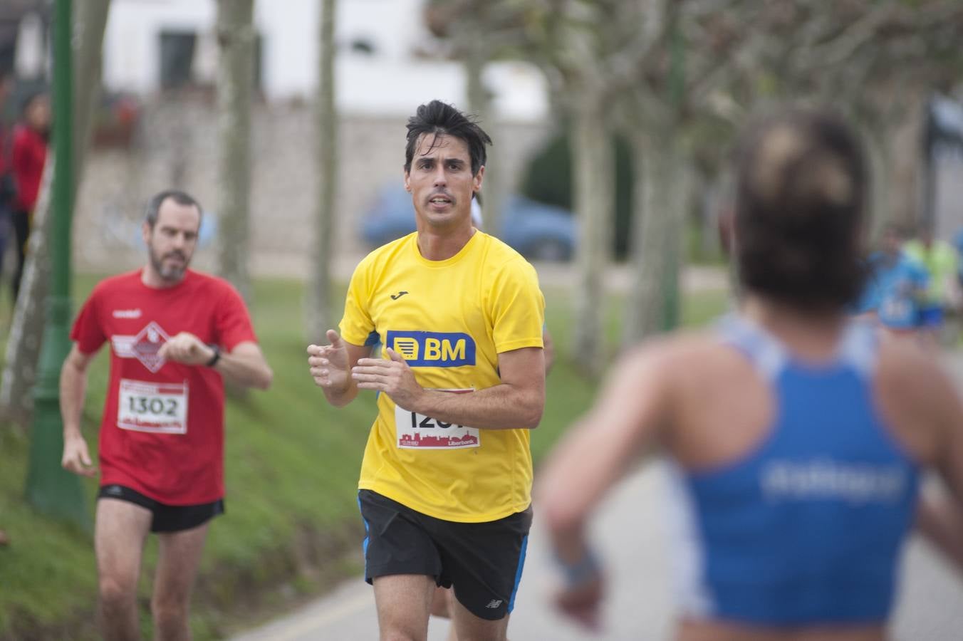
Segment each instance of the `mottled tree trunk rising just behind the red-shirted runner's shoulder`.
M254 0L219 0L218 215L221 276L250 302L250 103L254 81Z

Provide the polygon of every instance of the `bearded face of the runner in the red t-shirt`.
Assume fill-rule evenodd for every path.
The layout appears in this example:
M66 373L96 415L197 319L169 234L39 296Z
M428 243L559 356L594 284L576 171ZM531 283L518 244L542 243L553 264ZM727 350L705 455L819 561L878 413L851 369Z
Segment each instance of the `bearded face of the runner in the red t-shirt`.
M174 283L184 277L194 256L199 228L197 208L178 204L173 198L161 203L153 229L143 223L143 242L150 265L162 279Z

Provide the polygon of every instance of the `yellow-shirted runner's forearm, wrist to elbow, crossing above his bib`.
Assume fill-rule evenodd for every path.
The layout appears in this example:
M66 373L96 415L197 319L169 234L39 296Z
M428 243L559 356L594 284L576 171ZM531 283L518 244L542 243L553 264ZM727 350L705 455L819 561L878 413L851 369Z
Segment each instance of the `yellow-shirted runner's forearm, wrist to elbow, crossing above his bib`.
M544 405L544 393L503 383L468 394L426 390L411 411L481 429L534 429Z

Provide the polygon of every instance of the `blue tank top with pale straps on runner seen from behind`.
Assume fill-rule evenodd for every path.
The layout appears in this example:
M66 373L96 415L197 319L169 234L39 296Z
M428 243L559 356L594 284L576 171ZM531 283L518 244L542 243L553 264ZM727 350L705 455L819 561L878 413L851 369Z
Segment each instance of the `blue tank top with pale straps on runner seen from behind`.
M670 465L684 615L760 626L884 622L919 470L873 406L872 327L850 324L834 362L818 368L748 321L727 318L719 332L768 381L774 423L740 461L705 472Z

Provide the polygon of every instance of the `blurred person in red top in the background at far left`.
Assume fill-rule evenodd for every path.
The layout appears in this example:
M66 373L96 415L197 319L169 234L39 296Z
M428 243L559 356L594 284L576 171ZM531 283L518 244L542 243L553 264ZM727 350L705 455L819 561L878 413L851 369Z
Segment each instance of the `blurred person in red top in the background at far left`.
M20 292L23 264L27 256L31 221L47 159L50 135L50 98L35 93L23 103L23 121L13 128L11 168L16 195L13 197L13 233L16 236L17 268L13 274L13 297Z

